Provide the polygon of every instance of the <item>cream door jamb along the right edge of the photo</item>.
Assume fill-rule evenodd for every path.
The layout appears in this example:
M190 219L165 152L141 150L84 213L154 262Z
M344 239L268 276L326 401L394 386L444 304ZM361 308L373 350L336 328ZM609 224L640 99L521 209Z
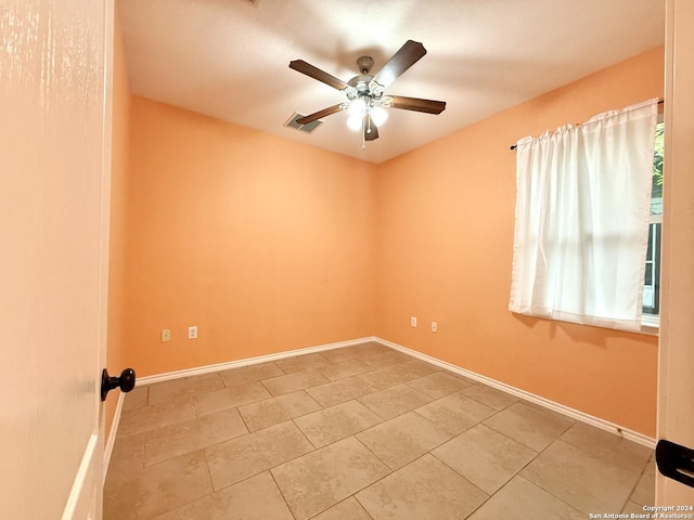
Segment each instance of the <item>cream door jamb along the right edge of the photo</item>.
M667 0L658 439L694 448L694 2ZM656 503L694 506L658 473ZM678 511L674 511L678 512ZM691 515L694 511L679 511Z

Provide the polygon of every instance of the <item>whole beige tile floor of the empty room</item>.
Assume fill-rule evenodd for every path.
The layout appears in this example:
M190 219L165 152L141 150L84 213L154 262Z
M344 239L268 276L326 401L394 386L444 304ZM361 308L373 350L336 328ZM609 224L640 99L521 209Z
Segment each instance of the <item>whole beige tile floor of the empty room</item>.
M104 519L586 519L653 452L380 343L138 387Z

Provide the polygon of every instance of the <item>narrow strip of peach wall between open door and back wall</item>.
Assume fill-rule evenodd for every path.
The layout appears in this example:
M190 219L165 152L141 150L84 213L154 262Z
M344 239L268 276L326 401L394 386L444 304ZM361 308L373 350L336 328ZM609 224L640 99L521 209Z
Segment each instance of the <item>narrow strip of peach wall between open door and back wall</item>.
M106 367L112 375L126 367L125 356L125 245L129 234L127 216L128 147L129 147L130 87L125 62L125 49L115 11L113 50L113 119L111 156L111 236L108 244L108 332ZM118 392L106 399L106 434L118 401Z

